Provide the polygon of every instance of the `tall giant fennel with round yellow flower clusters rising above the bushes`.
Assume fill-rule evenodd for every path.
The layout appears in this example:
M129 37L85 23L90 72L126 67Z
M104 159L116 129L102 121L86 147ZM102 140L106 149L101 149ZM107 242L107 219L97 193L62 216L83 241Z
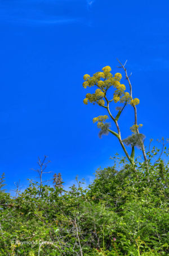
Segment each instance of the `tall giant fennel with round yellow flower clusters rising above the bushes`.
M119 67L121 67L125 72L125 78L127 79L129 85L129 92L126 91L126 86L121 83L122 74L116 73L113 76L111 72L111 67L105 66L103 67L102 72L96 72L93 76L90 76L88 74L83 76L84 88L94 86L96 87L96 91L94 93L86 94L86 98L83 100L83 103L86 105L88 103L98 104L100 107L105 108L108 113L108 116L98 116L93 119L93 122L97 122L97 127L100 129L99 136L109 133L116 136L123 148L124 153L126 154L128 161L130 161L131 164L134 164L135 162L135 147L140 148L140 150L143 152L144 161L147 164L148 160L144 147L145 136L144 134L141 134L139 132L139 128L143 125L137 123L136 105L140 103L140 100L137 98L133 98L132 96L132 85L130 82L130 76L128 76L125 67L127 61L124 63L124 65L122 65L120 61L118 62L120 64ZM108 93L110 91L110 88L113 88L113 93ZM122 106L116 107L116 110L118 111L116 116L113 116L112 112L110 111L110 104L112 103L122 104ZM134 125L130 127L132 135L122 140L121 129L119 127L118 120L127 105L130 105L134 109ZM116 131L110 129L111 123L106 122L108 118L110 118L114 122ZM128 153L126 146L131 146L131 153Z

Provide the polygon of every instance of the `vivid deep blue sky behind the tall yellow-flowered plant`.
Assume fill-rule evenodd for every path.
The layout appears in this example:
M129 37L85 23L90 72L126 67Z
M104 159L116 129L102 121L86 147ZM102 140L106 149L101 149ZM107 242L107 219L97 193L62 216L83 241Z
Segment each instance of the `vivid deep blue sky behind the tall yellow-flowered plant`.
M117 140L99 139L92 118L106 114L84 105L83 75L128 59L139 123L149 139L168 137L169 2L112 0L1 0L1 166L7 189L35 177L37 157L89 182L99 167L122 154ZM123 81L126 84L126 80ZM114 111L114 110L113 110ZM122 136L130 135L130 106Z

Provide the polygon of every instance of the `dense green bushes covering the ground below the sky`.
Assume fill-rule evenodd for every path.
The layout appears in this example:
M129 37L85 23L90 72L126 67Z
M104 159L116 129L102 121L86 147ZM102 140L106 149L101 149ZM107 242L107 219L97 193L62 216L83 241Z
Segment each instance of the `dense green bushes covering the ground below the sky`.
M122 162L97 170L88 189L1 191L1 255L167 255L168 164L149 162L148 173Z

